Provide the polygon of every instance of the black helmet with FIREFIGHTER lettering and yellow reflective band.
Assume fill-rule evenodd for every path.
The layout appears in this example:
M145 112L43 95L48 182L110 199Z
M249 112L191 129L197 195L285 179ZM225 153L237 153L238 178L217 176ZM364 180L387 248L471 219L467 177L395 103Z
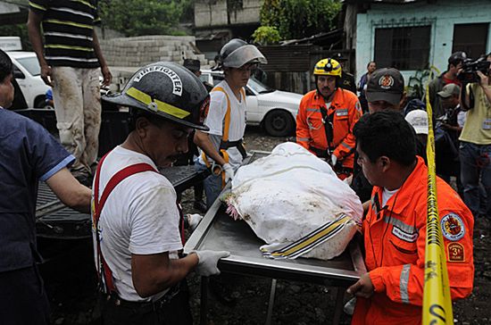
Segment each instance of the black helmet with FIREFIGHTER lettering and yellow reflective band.
M204 126L210 97L194 73L176 63L159 62L140 68L121 91L103 100L152 112L193 129Z

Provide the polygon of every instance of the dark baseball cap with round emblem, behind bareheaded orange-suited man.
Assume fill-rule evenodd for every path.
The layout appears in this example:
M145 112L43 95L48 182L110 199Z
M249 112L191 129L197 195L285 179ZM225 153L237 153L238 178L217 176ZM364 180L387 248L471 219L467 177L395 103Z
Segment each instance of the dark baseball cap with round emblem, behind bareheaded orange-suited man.
M394 105L399 104L403 94L403 75L394 68L382 68L373 71L365 92L369 102L383 100Z

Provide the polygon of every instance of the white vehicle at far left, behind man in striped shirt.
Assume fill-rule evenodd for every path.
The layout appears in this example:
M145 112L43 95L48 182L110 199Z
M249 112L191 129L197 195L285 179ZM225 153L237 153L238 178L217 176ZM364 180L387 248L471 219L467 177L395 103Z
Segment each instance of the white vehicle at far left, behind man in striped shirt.
M41 67L34 52L7 52L13 63L13 77L21 87L28 107L45 107L49 86L41 79Z

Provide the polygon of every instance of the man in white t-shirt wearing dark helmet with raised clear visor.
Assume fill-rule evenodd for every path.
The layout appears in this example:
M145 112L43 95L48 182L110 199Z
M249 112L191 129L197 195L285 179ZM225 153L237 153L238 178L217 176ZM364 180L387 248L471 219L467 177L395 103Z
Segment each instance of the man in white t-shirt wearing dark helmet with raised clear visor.
M221 48L219 62L225 79L210 93L210 109L204 124L209 130L196 130L195 143L202 149L197 169L208 168L204 179L208 208L221 189L234 177L245 158L242 143L245 131L245 85L259 63L267 63L256 46L234 38Z

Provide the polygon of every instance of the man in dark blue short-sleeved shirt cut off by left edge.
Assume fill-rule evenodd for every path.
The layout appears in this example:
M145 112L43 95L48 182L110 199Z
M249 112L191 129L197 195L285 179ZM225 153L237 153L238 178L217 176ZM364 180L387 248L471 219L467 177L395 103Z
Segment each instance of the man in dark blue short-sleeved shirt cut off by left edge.
M67 167L69 154L34 121L7 111L12 104L12 61L0 50L0 322L49 324L49 303L37 270L37 183L45 181L62 203L88 212L90 189Z

